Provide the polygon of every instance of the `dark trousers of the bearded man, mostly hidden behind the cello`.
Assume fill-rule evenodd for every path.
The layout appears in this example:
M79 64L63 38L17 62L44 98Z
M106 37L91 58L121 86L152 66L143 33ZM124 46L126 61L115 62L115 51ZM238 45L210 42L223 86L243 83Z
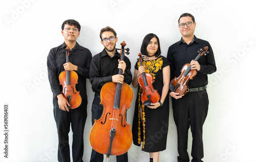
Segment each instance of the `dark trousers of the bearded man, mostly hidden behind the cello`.
M92 104L92 125L94 124L94 120L98 120L101 117L101 114L103 112L103 106L99 104L100 103L100 97L95 95L93 99ZM94 149L92 149L91 154L91 160L90 162L102 162L104 158L104 155L101 153L98 153ZM127 152L116 156L117 162L128 162L128 154Z

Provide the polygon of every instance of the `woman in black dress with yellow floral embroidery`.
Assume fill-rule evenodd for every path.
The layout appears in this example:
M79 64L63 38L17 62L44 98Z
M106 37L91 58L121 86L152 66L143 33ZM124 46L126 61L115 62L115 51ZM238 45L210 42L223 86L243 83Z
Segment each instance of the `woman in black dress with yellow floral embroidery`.
M159 161L159 151L166 149L169 98L168 89L170 82L169 61L161 56L159 38L155 34L147 34L141 45L141 54L145 55L142 61L135 64L133 87L138 87L135 112L133 119L133 142L142 144L142 151L150 153L150 161ZM138 78L142 73L150 73L153 76L153 87L158 90L160 101L145 106L141 103L143 89L139 86Z

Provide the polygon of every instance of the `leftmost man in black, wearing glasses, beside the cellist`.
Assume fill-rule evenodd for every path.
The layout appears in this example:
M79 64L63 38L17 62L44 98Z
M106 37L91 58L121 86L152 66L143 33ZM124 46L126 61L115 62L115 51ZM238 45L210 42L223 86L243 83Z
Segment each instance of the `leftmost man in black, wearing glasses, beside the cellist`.
M53 92L53 113L58 133L58 161L61 162L70 161L70 125L73 132L73 161L83 161L83 130L87 118L86 79L89 78L92 54L87 48L76 42L80 28L81 26L76 20L64 21L61 26L64 42L51 49L47 58L48 78ZM67 63L66 48L70 49ZM75 88L79 91L82 102L75 109L68 108L70 104L61 94L62 85L59 82L59 74L63 71L74 71L78 75L78 83Z

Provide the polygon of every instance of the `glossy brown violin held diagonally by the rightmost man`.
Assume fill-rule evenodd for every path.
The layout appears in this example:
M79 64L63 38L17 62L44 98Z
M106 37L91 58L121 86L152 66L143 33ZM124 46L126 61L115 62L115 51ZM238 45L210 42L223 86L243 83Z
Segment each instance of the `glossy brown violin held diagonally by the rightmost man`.
M197 61L202 55L206 55L209 53L208 47L204 47L204 50L198 51L198 56L195 58L194 61ZM191 65L186 63L183 65L181 69L181 75L177 78L175 77L169 84L169 89L176 93L179 93L178 96L185 95L187 92L187 83L190 79L193 79L197 75L197 70L191 70Z

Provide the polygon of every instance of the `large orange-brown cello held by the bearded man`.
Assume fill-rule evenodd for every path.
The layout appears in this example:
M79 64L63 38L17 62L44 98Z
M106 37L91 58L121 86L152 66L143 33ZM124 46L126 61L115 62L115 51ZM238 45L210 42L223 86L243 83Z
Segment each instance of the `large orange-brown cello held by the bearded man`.
M122 61L126 43L123 41L121 45ZM122 75L122 69L119 68L118 74ZM132 145L131 124L127 124L125 119L126 110L131 107L132 101L133 90L126 83L108 82L101 88L100 104L103 105L103 112L99 120L94 120L89 140L92 148L101 154L106 154L106 158L110 155L124 154Z

